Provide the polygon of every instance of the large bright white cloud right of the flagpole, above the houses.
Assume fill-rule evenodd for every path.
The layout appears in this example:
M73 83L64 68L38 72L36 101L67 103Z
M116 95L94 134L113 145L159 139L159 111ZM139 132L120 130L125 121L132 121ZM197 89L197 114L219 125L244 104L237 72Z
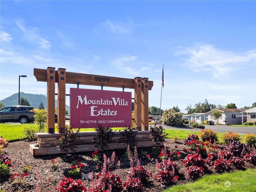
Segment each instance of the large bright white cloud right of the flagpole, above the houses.
M240 70L243 65L254 62L256 50L248 52L231 52L215 48L209 44L196 44L192 48L183 48L175 56L185 56L185 65L194 72L211 72L218 78L235 70Z

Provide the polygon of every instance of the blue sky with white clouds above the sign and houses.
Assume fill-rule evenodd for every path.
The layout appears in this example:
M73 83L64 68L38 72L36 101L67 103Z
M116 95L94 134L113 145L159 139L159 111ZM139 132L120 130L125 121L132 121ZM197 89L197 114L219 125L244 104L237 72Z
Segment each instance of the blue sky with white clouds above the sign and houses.
M46 95L46 82L37 82L33 69L50 66L149 78L154 81L149 106L160 107L164 65L164 110L178 106L186 113L188 105L205 99L238 108L256 102L256 1L1 1L0 6L0 99L18 92L19 75L27 75L20 78L21 92ZM70 87L76 85L68 84L67 94Z

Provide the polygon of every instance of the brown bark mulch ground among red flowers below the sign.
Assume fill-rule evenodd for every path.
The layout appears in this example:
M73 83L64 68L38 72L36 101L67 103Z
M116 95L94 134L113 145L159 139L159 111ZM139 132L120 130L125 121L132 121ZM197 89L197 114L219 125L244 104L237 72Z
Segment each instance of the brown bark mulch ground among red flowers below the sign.
M9 145L4 149L4 151L9 155L13 168L11 169L11 174L17 173L22 174L22 165L31 166L28 171L29 175L26 179L20 180L17 184L13 184L13 180L1 178L1 188L4 192L54 192L60 181L64 177L69 177L68 170L72 166L72 162L81 159L81 163L84 165L82 168L83 175L77 178L82 181L82 184L86 188L90 188L90 181L85 177L87 173L98 172L97 166L101 167L102 164L95 162L92 158L92 152L74 153L66 156L66 154L57 155L44 155L44 156L32 156L29 151L29 145L35 142L28 141L18 141L9 143ZM184 145L184 140L177 140L173 142L171 139L166 139L164 146L170 151L170 149L184 150L188 149L188 146ZM143 183L144 191L146 192L161 192L163 188L161 184L156 182L154 175L157 174L157 167L154 160L148 159L146 156L142 155L142 151L148 152L152 158L156 158L152 153L152 147L138 148L138 157L141 159L141 165L149 172L152 173L152 177L148 179L148 182ZM106 156L111 157L113 151L106 151ZM127 173L130 168L130 163L128 158L124 157L126 150L115 150L118 160L120 160L120 168L113 170L113 173L118 174L122 183L126 181ZM186 174L186 167L183 165L183 159L189 154L188 152L180 151L181 159L174 160L178 164L179 179L176 184L185 184L192 182L192 179ZM52 168L52 159L58 160L58 165L56 168ZM255 168L253 164L245 162L244 169ZM209 173L216 174L212 166L208 166ZM232 171L237 170L232 168Z

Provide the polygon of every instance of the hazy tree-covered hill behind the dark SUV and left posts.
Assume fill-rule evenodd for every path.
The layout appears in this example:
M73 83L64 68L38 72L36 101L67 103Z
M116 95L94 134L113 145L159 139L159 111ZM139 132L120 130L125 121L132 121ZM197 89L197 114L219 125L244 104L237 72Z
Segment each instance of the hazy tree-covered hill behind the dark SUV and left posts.
M40 103L42 102L44 104L44 108L46 108L46 96L42 94L30 94L30 93L24 93L20 92L20 98L26 98L28 102L30 103L30 106L33 106L35 108L39 108ZM18 105L18 98L19 94L15 93L12 96L9 96L3 100L0 100L4 104L5 107L9 105ZM55 108L58 107L58 100L55 100ZM69 110L69 106L66 105L66 109Z

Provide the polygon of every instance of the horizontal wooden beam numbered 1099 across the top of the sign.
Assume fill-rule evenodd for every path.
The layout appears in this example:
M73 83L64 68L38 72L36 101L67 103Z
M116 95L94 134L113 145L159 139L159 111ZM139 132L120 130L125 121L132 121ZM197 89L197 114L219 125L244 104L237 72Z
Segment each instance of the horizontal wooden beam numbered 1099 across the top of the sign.
M55 82L58 82L58 71L55 71ZM47 81L47 71L44 69L34 68L34 76L37 81ZM94 85L94 86L103 86L105 87L120 87L134 89L134 79L129 78L119 78L119 77L110 77L110 76L100 76L92 74L82 74L82 73L73 73L66 72L66 84L77 84L80 85ZM153 87L153 81L148 81L148 90L151 90Z

